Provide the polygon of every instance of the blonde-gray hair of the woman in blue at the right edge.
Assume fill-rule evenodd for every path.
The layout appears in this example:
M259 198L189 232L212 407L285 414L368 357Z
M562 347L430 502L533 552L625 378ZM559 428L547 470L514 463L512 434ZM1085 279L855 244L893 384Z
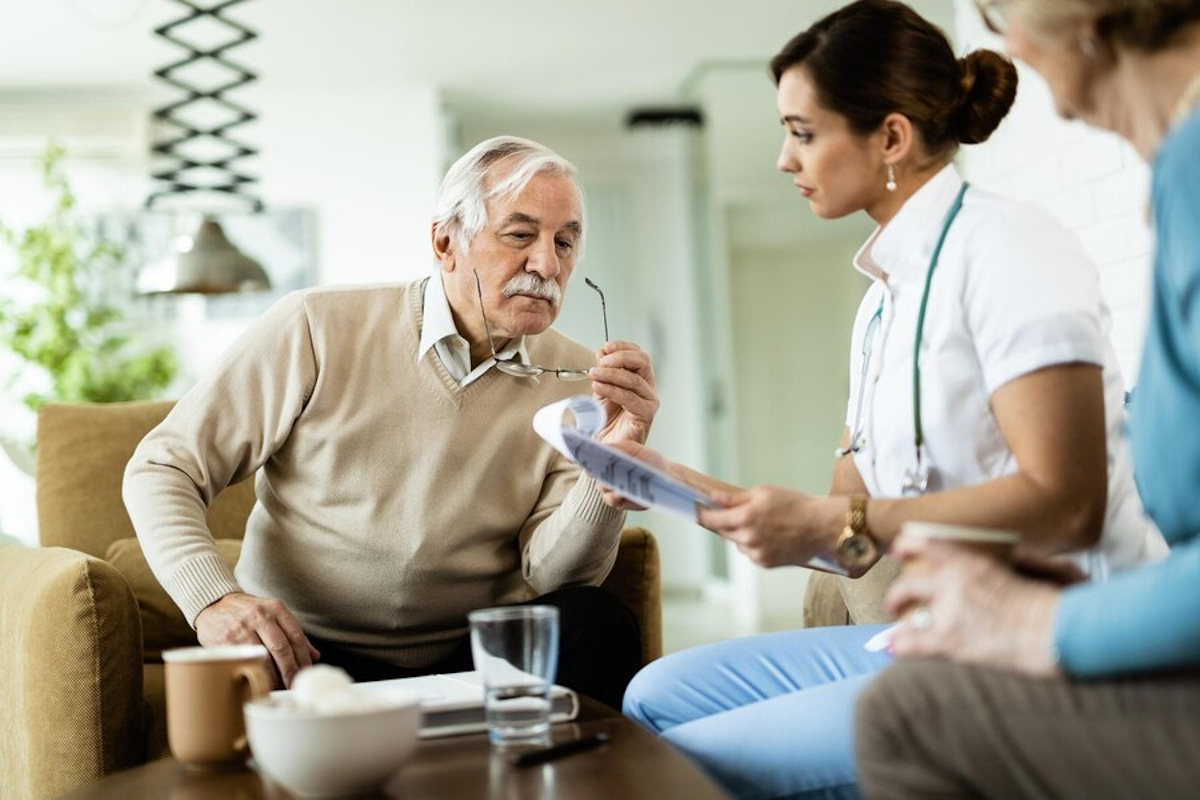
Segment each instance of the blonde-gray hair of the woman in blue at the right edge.
M1012 0L1012 8L1038 34L1093 23L1100 38L1145 52L1200 22L1200 0Z

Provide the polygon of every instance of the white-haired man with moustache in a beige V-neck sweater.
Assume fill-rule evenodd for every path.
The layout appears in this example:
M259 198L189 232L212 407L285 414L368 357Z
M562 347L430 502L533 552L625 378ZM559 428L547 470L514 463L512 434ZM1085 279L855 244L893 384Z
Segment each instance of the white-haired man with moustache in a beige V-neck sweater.
M619 708L637 624L595 584L623 512L530 427L589 387L606 441L644 441L658 410L637 347L550 330L582 239L574 167L490 139L442 184L434 276L292 294L180 399L124 495L202 644L262 642L284 685L318 658L359 680L469 669L467 613L532 587L560 612L559 681ZM205 509L256 473L230 572Z

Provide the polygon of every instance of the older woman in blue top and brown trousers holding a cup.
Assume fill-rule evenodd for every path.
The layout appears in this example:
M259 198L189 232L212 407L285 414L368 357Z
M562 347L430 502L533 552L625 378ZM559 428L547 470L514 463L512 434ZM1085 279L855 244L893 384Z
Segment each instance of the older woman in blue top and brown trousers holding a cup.
M1153 306L1130 437L1162 563L1103 584L1020 577L950 546L919 559L894 610L902 661L863 696L871 798L1174 798L1200 790L1200 1L982 2L1060 114L1153 166ZM955 663L958 662L958 663Z

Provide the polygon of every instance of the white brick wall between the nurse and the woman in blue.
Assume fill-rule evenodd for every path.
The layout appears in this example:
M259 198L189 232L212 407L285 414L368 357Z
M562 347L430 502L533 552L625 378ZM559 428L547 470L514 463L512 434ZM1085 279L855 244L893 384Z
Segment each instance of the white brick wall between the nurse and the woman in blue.
M955 0L955 11L960 54L1002 48L971 0ZM1060 119L1040 76L1018 68L1013 110L991 139L962 149L961 169L973 184L1044 206L1080 236L1099 269L1112 343L1132 386L1150 301L1150 170L1118 137Z

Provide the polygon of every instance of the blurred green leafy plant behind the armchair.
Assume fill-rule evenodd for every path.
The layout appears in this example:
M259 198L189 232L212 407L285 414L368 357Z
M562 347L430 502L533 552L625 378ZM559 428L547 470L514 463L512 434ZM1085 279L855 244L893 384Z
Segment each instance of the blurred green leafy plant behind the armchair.
M121 309L108 296L122 248L90 240L74 219L76 198L52 144L41 160L53 198L49 215L17 231L0 221L0 242L16 252L13 291L0 297L0 348L13 374L0 389L30 411L47 402L107 403L156 396L175 377L167 347L138 347ZM7 372L8 369L6 369ZM5 432L5 449L31 446ZM16 458L14 458L16 459Z

